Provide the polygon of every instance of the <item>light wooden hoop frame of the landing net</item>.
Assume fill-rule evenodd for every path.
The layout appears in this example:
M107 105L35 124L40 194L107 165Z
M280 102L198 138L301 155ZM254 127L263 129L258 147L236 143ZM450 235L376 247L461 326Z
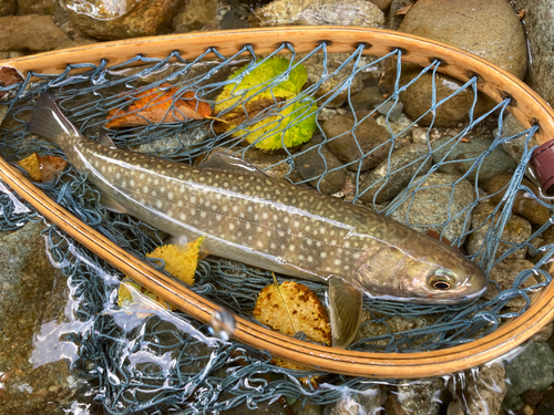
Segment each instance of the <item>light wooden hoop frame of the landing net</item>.
M461 81L478 76L479 89L489 96L496 101L511 97L509 110L515 117L525 127L540 126L535 137L541 144L554 137L553 110L514 75L458 48L379 29L294 27L142 38L4 60L0 61L0 68L13 66L23 75L28 71L61 73L70 63L96 63L106 59L111 66L138 53L147 58L163 59L171 52L178 51L182 58L191 59L211 46L216 46L224 55L232 55L245 44L250 44L257 54L264 54L273 52L283 42L290 43L297 52L308 52L321 42L327 42L328 52L349 53L361 43L366 46L366 54L377 56L401 49L406 62L422 66L440 60L440 72ZM0 178L78 242L188 315L207 323L212 314L219 309L217 304L174 282L84 225L1 157ZM554 266L550 272L553 271ZM439 351L409 354L368 353L319 346L264 329L242 318L236 319L234 339L266 350L275 356L332 373L379 378L413 378L454 373L490 362L523 343L553 318L554 284L551 283L535 295L529 310L521 317L480 340Z

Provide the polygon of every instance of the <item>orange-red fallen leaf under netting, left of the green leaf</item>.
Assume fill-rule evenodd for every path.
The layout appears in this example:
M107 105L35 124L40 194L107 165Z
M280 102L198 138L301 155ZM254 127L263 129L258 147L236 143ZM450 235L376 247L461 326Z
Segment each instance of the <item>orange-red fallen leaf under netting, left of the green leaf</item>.
M193 91L175 97L178 87L162 84L137 94L126 96L132 103L126 108L113 108L107 113L106 128L133 127L138 125L175 123L204 120L212 115L207 102L198 101Z

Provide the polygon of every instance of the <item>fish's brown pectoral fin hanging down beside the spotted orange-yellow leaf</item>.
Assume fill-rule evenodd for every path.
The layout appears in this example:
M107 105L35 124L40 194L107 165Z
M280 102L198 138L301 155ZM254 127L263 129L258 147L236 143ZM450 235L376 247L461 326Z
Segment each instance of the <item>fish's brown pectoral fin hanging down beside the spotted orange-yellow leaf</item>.
M329 309L334 347L348 346L358 335L363 293L339 278L329 279Z

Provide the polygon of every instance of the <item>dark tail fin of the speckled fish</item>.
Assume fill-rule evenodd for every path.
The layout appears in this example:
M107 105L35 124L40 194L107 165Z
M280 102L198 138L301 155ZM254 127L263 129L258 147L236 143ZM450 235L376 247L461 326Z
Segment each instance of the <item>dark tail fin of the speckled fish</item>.
M27 129L58 146L61 146L63 139L68 136L81 135L75 126L62 114L52 96L45 92L40 94Z

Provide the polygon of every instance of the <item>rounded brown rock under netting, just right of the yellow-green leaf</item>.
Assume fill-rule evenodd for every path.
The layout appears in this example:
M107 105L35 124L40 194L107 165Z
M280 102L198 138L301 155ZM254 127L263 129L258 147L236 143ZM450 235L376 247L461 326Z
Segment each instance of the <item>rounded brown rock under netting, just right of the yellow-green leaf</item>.
M360 117L358 122L359 120ZM321 124L321 129L329 139L329 149L345 164L351 163L347 166L349 170L359 168L363 172L377 167L389 154L389 132L378 125L373 117L367 117L356 126L356 138L351 134L353 127L353 115L337 115ZM365 157L360 166L360 163L355 162L361 156Z

